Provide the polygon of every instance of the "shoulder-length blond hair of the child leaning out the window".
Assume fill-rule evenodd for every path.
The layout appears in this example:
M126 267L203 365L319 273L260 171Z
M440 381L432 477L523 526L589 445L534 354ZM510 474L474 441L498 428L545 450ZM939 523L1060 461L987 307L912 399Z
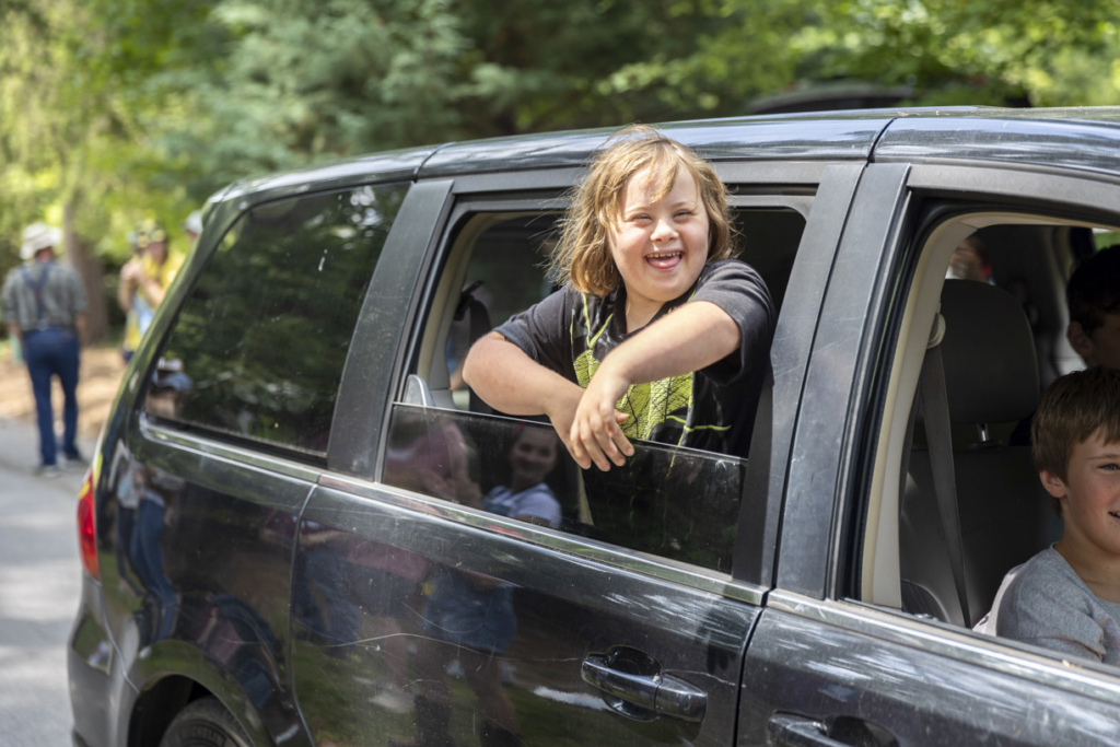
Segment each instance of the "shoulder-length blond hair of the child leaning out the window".
M708 213L708 261L731 256L731 214L727 193L716 170L691 149L654 128L631 125L615 133L591 164L587 178L572 192L560 241L550 269L558 283L571 281L576 290L594 296L613 291L622 277L610 255L610 227L631 176L645 168L661 176L657 199L673 188L681 168L696 179L700 202Z

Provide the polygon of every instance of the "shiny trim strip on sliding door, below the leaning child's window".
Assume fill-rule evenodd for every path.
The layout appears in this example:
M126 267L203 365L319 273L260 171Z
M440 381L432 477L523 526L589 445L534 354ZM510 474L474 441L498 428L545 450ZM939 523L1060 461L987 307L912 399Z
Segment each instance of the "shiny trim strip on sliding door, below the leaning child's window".
M325 471L319 476L319 485L349 493L363 498L381 501L393 506L418 511L447 521L465 524L488 532L513 536L550 550L615 566L628 571L643 573L663 581L672 581L700 591L716 594L729 599L762 606L766 589L731 579L728 573L709 571L688 563L657 558L636 550L626 550L605 542L566 534L545 526L498 516L479 508L432 498L411 491L390 487L368 480Z

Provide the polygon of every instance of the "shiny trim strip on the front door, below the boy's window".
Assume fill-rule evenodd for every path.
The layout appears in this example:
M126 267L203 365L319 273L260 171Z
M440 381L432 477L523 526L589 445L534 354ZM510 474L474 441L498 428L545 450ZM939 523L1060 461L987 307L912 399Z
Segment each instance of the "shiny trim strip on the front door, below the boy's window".
M1108 673L1112 667L1094 664L1089 660L1060 660L1057 654L1051 659L1034 653L1034 646L983 636L945 623L922 620L900 611L857 601L820 600L776 589L767 595L766 606L1046 687L1107 702L1120 702L1120 678Z

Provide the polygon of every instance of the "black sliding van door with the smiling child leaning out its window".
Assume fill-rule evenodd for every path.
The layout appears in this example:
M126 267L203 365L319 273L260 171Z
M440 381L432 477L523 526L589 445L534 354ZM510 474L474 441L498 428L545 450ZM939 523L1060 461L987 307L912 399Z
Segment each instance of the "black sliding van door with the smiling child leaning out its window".
M745 187L743 220L793 236L790 264L772 258L785 310L750 458L640 443L628 473L640 484L624 489L644 514L631 523L597 502L550 427L486 412L456 384L456 335L477 336L475 315L485 307L497 324L548 292L508 272L536 264L532 246L577 174L413 187L398 218L411 235L379 265L330 469L300 523L292 662L317 744L734 744L743 655L773 573L771 496L862 169L786 166L726 169ZM554 519L495 513L482 489L519 469L526 441L548 455Z

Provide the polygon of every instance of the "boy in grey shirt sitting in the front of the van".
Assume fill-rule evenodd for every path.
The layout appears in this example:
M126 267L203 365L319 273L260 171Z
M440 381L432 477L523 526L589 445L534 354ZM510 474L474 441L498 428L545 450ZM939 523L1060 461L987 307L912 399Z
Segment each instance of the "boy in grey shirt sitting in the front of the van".
M1032 443L1065 530L1008 573L996 633L1120 664L1120 371L1096 366L1055 381L1038 404Z

